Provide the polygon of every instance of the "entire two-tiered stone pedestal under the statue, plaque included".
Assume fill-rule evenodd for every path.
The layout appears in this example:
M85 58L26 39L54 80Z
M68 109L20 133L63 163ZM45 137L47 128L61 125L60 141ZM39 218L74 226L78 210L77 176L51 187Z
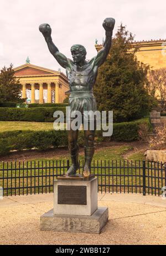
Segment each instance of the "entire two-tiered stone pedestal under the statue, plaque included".
M40 217L40 230L100 234L108 208L97 207L97 178L61 177L54 181L54 209Z

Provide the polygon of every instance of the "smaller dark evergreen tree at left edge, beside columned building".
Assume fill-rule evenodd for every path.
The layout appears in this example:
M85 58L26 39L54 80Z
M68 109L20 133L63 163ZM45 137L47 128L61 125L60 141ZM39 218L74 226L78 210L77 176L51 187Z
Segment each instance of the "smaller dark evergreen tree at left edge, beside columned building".
M22 85L14 76L13 65L11 64L9 68L4 66L0 72L0 102L21 102L22 100L20 98Z

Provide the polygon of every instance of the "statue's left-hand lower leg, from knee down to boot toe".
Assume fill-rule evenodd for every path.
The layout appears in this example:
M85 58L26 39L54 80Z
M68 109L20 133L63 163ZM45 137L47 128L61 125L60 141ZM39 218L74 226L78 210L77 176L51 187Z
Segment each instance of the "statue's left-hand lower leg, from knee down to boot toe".
M76 170L79 168L79 145L77 144L78 130L68 131L69 151L71 155L71 166L66 172L66 176L76 175Z

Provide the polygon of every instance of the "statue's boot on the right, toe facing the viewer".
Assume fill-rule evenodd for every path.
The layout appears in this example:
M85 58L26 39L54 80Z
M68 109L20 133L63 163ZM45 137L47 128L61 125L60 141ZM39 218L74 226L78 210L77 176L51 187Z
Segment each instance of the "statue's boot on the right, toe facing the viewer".
M86 147L85 146L85 164L82 175L84 177L89 177L91 174L91 161L94 156L95 147Z

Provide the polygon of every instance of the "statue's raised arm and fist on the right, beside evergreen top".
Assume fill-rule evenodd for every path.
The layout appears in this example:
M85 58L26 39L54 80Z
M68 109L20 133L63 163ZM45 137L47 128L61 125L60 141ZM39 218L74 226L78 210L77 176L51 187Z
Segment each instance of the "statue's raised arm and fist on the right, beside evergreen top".
M103 28L106 30L106 39L103 44L103 48L98 52L97 56L95 57L95 65L101 66L110 51L111 44L112 44L112 31L115 25L115 19L113 18L106 18L103 23Z

